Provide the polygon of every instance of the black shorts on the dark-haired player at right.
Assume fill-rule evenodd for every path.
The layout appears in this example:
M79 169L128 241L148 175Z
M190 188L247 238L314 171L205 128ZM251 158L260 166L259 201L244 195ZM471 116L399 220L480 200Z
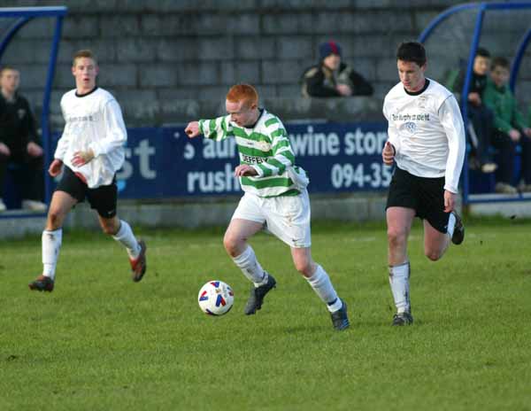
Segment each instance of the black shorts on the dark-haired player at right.
M389 207L412 208L434 229L447 232L450 213L444 212L444 177L417 177L396 167L389 185Z

